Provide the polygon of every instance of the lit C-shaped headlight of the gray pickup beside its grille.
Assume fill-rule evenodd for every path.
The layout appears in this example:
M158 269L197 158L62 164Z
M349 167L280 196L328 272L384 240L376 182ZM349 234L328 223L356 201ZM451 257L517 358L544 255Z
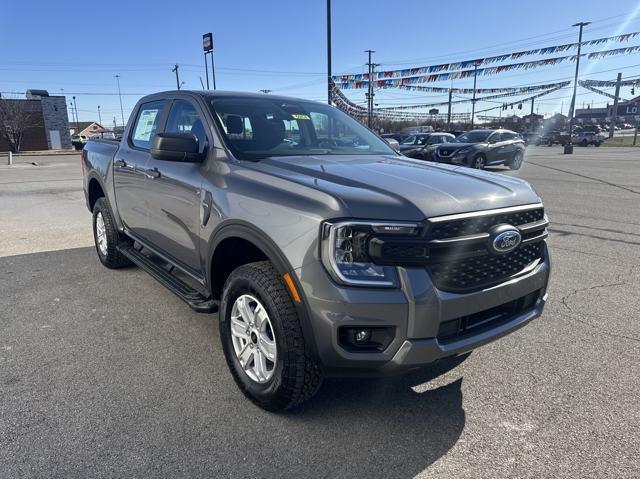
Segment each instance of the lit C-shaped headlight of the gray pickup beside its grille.
M413 235L415 223L346 221L322 224L321 258L329 274L338 283L349 286L398 287L395 266L375 264L369 257L373 236Z

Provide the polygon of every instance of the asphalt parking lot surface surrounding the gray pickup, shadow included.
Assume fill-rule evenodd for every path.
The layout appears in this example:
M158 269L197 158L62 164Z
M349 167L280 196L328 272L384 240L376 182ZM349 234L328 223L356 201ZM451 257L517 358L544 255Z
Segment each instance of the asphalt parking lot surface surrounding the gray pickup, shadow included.
M0 477L639 477L640 149L535 147L498 171L552 223L543 317L271 414L215 315L100 265L78 156L0 166Z

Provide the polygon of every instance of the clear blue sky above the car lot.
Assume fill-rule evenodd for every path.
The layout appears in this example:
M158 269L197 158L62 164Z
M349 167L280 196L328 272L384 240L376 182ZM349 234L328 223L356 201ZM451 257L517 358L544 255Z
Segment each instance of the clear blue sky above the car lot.
M0 28L0 91L47 89L77 98L81 120L120 124L115 74L121 76L125 118L138 98L175 88L180 65L184 88L204 81L202 34L214 33L216 79L226 90L274 92L326 99L325 0L157 0L86 4L5 0ZM3 2L4 3L4 2ZM54 8L55 7L55 8ZM592 21L584 38L640 31L640 1L333 0L333 70L364 72L365 49L382 69L403 68L570 43L571 24ZM618 48L609 44L592 50ZM640 38L626 43L640 45ZM562 55L562 54L560 54ZM535 59L525 58L522 61ZM480 77L478 87L516 86L570 79L564 63L530 71ZM584 62L582 78L640 76L640 54ZM450 82L432 83L450 86ZM454 87L470 87L457 80ZM346 92L364 103L364 91ZM537 102L540 113L566 113L570 89ZM577 105L604 106L607 98L578 89ZM15 96L15 95L14 95ZM629 97L628 91L622 91ZM437 94L380 91L380 106L429 103ZM479 104L477 109L493 106ZM455 111L466 111L459 105ZM496 110L496 114L498 110Z

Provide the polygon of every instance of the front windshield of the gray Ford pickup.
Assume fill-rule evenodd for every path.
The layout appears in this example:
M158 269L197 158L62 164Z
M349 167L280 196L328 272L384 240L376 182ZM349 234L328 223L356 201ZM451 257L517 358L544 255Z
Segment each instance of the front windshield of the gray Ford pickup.
M225 143L241 160L299 155L397 155L340 110L302 100L225 97L211 105Z

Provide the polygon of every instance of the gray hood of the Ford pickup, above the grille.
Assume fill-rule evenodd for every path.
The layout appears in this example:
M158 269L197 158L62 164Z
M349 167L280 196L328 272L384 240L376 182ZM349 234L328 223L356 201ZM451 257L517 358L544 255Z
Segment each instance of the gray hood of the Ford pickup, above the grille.
M251 168L320 190L354 218L418 221L540 202L524 180L402 156L270 157Z

